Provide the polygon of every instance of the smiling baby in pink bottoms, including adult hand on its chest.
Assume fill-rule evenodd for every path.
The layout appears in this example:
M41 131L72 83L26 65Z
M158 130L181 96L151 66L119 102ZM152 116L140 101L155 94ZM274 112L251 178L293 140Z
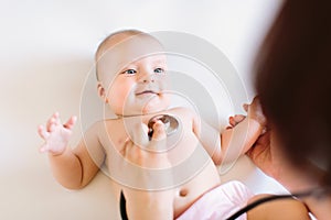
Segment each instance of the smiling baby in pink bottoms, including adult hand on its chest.
M117 118L93 124L72 150L67 143L76 118L62 124L55 113L39 128L45 141L41 152L49 153L55 178L70 189L86 186L106 164L124 219L190 219L203 200L221 202L215 215L227 217L252 194L237 182L221 185L215 164L236 160L261 134L266 122L258 100L241 123L220 134L192 110L169 108L167 58L160 52L154 37L135 30L104 40L96 52L97 90ZM141 160L139 151L152 156ZM145 202L146 191L170 202ZM224 196L232 194L237 199Z

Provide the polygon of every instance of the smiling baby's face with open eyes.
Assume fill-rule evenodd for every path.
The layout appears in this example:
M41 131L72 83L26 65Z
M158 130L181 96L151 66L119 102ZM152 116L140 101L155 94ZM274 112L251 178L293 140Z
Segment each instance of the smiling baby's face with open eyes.
M168 108L167 58L160 54L160 45L158 52L153 46L154 42L142 36L121 43L120 50L110 50L100 59L105 96L116 114L148 114Z

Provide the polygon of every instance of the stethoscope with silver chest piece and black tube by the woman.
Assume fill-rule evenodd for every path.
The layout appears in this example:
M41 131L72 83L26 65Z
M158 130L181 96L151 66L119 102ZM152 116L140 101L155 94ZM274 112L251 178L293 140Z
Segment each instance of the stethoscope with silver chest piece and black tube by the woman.
M148 136L149 139L151 139L152 134L153 134L153 130L152 127L156 123L156 121L162 121L162 123L164 124L164 129L166 129L166 134L167 136L170 136L172 134L174 134L178 129L179 129L179 121L169 114L158 114L152 117L149 122L148 122ZM274 200L279 200L279 199L291 199L291 198L303 198L303 197L316 197L316 198L321 198L325 195L330 194L330 189L329 188L314 188L314 189L310 189L307 191L301 191L298 194L289 194L289 195L273 195L273 196L268 196L268 197L264 197L260 198L252 204L248 204L246 207L239 209L238 211L236 211L235 213L233 213L231 217L228 217L226 220L235 220L238 217L241 217L243 213L254 209L255 207L268 202L268 201L274 201Z

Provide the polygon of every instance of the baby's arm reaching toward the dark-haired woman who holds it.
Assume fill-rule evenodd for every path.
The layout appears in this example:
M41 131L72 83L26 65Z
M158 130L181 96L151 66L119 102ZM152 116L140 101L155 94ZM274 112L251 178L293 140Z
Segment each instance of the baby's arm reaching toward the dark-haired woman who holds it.
M247 111L246 118L235 127L224 130L221 135L216 129L199 120L196 116L193 117L194 133L216 165L236 160L247 152L261 134L266 120L257 98L247 107Z

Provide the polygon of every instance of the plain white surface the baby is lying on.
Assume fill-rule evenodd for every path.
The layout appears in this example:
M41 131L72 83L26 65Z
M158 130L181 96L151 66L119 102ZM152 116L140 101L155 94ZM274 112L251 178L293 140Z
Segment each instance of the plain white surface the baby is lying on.
M54 112L79 114L84 80L97 44L122 28L181 31L223 51L248 96L256 47L280 1L2 1L0 0L0 219L116 219L107 177L79 191L52 177L36 127ZM226 116L227 117L227 116ZM81 135L75 128L72 143ZM245 174L245 175L244 175ZM224 180L245 182L256 193L281 188L242 158Z

